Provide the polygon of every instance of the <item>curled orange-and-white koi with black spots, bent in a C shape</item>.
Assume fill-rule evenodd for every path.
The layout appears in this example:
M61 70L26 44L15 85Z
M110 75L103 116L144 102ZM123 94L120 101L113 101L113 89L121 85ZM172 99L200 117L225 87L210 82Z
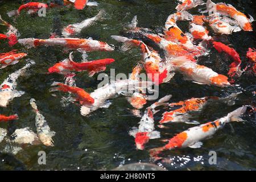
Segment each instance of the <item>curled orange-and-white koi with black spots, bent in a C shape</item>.
M191 20L192 15L187 11L182 11L174 13L168 16L165 24L166 30L164 31L164 39L182 44L184 47L191 48L193 47L192 41L188 38L187 35L183 33L182 30L177 26L177 20Z

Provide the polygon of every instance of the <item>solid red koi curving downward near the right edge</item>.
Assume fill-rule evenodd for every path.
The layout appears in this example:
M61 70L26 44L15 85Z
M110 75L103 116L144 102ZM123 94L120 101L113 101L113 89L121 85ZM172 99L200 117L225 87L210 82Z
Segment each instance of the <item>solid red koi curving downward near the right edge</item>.
M241 59L237 51L233 48L230 48L226 46L225 44L221 42L213 42L213 47L216 48L218 52L225 52L227 53L232 59L234 60L233 63L229 65L229 72L228 75L230 77L233 77L235 75L241 76L242 71L241 71Z

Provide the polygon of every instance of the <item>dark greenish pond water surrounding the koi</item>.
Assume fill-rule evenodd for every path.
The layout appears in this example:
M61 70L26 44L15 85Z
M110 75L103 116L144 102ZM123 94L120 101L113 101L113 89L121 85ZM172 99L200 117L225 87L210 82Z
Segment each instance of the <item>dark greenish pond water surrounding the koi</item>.
M102 40L109 44L116 44L110 35L119 35L123 29L123 23L130 22L134 15L138 16L139 26L157 28L164 26L168 15L175 13L177 1L101 1L97 0L98 7L86 7L82 11L73 7L61 7L47 10L46 17L38 17L22 13L18 18L9 18L7 11L18 9L20 4L25 1L0 1L0 14L2 18L18 28L21 38L48 38L53 31L58 31L61 27L70 23L81 22L85 18L90 18L97 14L98 10L106 11L106 19L97 22L92 27L83 30L80 38ZM216 1L214 1L216 2ZM234 5L238 10L256 18L255 2L249 0L225 1ZM197 8L190 11L197 13ZM187 31L188 24L183 22L179 26ZM253 28L256 30L255 22ZM5 32L4 26L0 26L0 32ZM256 36L253 32L237 32L229 36L220 36L222 42L232 44L241 55L243 66L246 65L246 51L249 47L255 47ZM70 104L62 106L60 104L63 93L57 93L53 97L49 93L49 88L53 81L63 82L63 76L47 75L47 69L53 64L68 57L59 47L38 47L26 49L18 44L14 46L19 51L28 53L28 58L36 61L36 65L30 69L28 75L20 77L17 90L26 92L22 97L15 98L7 108L0 108L1 114L19 115L19 120L10 123L1 123L0 127L10 131L23 127L31 127L35 131L35 115L31 111L29 100L35 98L46 117L51 130L56 132L54 137L55 147L23 146L23 150L16 155L0 152L0 169L113 169L120 164L136 162L150 162L147 150L153 147L163 146L160 139L150 140L146 150L138 151L134 146L134 138L130 137L128 131L133 126L138 126L139 118L134 117L129 109L125 97L117 97L111 100L112 105L108 109L98 109L89 117L82 117L80 107ZM0 44L1 52L10 51L7 43ZM116 73L130 73L134 65L141 59L139 49L134 48L130 51L114 52L92 52L88 53L90 60L112 57L115 63L108 66L115 68ZM200 57L199 63L207 65L214 71L226 75L228 65L232 60L224 54L217 53L214 49L207 57ZM10 74L21 68L25 61L0 70L0 82ZM88 77L86 73L79 73L76 76L76 84L88 92L97 88L97 75ZM181 75L176 76L168 83L160 86L160 97L172 94L172 101L185 100L191 97L218 96L225 97L231 93L241 91L234 105L223 103L213 103L203 111L193 116L193 120L205 123L223 117L229 111L242 105L255 104L255 96L252 92L256 91L255 77L243 74L236 81L236 86L231 88L216 88L214 86L197 85L190 81L184 81ZM148 105L151 105L149 102ZM143 111L143 109L142 109ZM160 115L156 115L159 119ZM174 158L177 156L187 156L191 159L187 164L180 166L176 162L174 166L168 163L156 163L169 170L184 169L191 170L248 170L256 169L256 122L255 117L245 118L243 123L232 123L226 125L213 138L205 140L201 148L167 151L164 156ZM170 129L158 129L162 139L174 136L176 133L192 127L188 124L170 125ZM6 143L1 143L3 148ZM38 151L46 151L47 164L38 164ZM208 164L208 153L214 150L217 152L217 165ZM201 159L198 162L193 159ZM204 159L204 160L203 160ZM181 159L181 162L184 160ZM202 163L203 162L203 163Z

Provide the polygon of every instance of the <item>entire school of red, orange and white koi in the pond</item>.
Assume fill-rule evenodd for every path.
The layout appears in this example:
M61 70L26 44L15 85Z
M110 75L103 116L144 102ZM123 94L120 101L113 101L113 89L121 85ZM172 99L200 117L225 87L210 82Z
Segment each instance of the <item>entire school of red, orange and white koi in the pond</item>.
M77 11L81 11L86 6L97 7L98 4L87 0L51 1L49 3L28 2L20 5L18 10L6 13L10 19L18 19L23 12L33 15L38 13L42 7L48 10L58 7L72 8L74 6ZM190 13L197 6L201 7L197 14ZM92 18L68 24L62 28L61 34L52 32L48 39L20 38L22 35L15 28L15 24L7 22L0 15L1 26L6 27L6 31L0 34L0 43L8 43L9 47L19 44L27 50L36 47L63 48L63 51L69 53L69 56L59 63L51 63L52 66L46 70L46 74L59 74L64 77L64 81L57 82L53 80L48 92L55 97L65 96L61 98L62 101L67 100L69 103L80 107L80 114L83 117L89 117L90 114L100 108L107 110L111 104L108 100L118 95L125 96L133 107L133 109L130 109L131 113L135 117L141 118L137 126L127 131L127 134L131 136L130 138L134 140L134 150L148 151L151 161L156 162L164 159L163 154L167 150L179 150L179 148L186 147L200 148L203 146L204 140L212 138L218 130L223 129L228 123L245 122L242 117L254 115L256 111L255 103L241 105L221 118L202 123L193 120L192 115L195 112L200 113L210 102L218 101L225 104L230 100L234 101L241 92L232 93L226 97L187 98L179 102L171 102L170 100L175 100L171 94L152 101L147 93L134 92L135 90L152 89L154 85L161 86L167 82L172 82L172 78L179 74L183 76L184 80L199 85L208 85L216 89L232 88L238 84L239 78L245 74L253 76L255 79L256 47L248 47L246 55L240 56L232 45L222 43L221 39L216 38L216 35L229 36L233 32L254 31L252 23L255 17L238 11L236 7L225 2L214 3L210 0L179 0L175 9L176 13L167 17L159 32L140 27L137 20L138 16L135 15L131 22L123 23L121 35L111 36L116 43L115 46L101 40L79 38L82 30L86 30L94 23L104 19L107 13L103 9L98 10L98 14ZM188 30L178 26L181 21L189 24ZM226 74L219 74L199 62L200 57L210 55L211 48L216 49L216 52L220 55L226 56L227 61L230 60L228 62L229 70ZM95 77L97 73L104 72L115 61L122 61L110 57L89 61L86 52L127 52L130 49L139 49L141 60L134 65L129 78L109 82L90 93L76 85L75 77L80 76L80 72L86 73L89 77ZM82 60L75 60L73 52L79 53ZM30 57L29 53L18 49L0 53L1 71L5 71L14 64L19 64L19 61L26 59L26 57ZM0 85L0 107L3 107L3 109L8 107L14 98L23 97L25 94L22 90L17 90L19 84L17 80L29 73L36 65L36 61L32 59L26 59L25 61L26 65L24 67L11 73ZM142 81L139 77L143 71L146 72L147 81ZM134 86L127 90L129 85ZM255 91L252 91L254 96ZM130 92L133 92L133 94L130 94ZM66 97L67 94L68 97ZM4 141L19 145L18 149L12 151L13 154L17 154L28 145L55 146L56 132L48 125L47 117L42 114L44 112L40 112L40 108L38 108L36 100L32 96L28 102L31 105L31 112L35 114L35 131L30 127L24 127L10 133L6 128L0 128L0 145ZM141 114L141 111L143 111L143 114ZM157 113L158 116L156 116ZM16 113L12 115L0 113L0 123L10 121L19 122L18 115ZM158 131L158 129L168 130L169 127L176 127L179 123L187 123L187 129L173 135L171 138L163 137L165 134ZM236 125L236 127L239 127L239 125ZM148 148L147 143L154 139L161 139L160 141L163 143L160 143L158 147Z

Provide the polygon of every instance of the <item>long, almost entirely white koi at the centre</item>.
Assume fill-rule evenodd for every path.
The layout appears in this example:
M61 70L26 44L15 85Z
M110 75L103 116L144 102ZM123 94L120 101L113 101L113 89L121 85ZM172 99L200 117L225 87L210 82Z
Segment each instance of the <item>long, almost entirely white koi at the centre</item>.
M81 114L86 116L89 113L104 107L106 105L106 100L113 98L119 93L129 93L134 90L142 90L152 87L152 82L149 81L137 81L137 80L117 80L115 82L110 82L102 86L94 92L90 93L90 97L94 99L93 104L86 104L81 106Z

